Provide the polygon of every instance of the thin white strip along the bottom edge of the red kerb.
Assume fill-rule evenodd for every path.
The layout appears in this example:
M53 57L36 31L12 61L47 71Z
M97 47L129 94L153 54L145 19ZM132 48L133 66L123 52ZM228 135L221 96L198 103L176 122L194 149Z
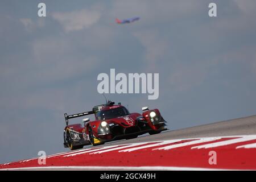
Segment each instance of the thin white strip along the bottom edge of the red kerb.
M0 169L0 171L13 171L13 170L149 170L149 171L236 171L240 169L217 169L217 168L199 168L199 167L168 167L168 166L139 166L139 167L129 167L129 166L47 166L47 167L21 167L21 168L9 168Z

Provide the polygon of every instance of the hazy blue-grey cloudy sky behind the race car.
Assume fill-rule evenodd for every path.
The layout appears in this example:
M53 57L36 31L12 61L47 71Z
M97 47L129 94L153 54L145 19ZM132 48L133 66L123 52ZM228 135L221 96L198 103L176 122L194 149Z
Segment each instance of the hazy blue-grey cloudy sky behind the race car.
M106 97L130 112L158 108L170 130L256 114L255 9L254 0L2 0L0 163L68 151L64 113L104 103L97 76L111 68L159 73L157 100Z

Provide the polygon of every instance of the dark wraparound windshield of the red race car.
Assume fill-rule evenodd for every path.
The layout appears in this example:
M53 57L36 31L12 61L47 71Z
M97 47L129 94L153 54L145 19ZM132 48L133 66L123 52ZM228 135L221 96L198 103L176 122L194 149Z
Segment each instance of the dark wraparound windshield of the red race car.
M96 114L96 119L112 119L121 116L129 115L129 111L125 107L118 107L115 109L101 110Z

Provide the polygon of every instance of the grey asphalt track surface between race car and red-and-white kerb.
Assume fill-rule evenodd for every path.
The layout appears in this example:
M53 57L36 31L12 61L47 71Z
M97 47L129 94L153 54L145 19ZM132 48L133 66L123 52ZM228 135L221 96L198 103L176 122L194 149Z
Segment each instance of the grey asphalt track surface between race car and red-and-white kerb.
M156 134L146 135L129 140L118 140L111 143L105 143L101 146L111 146L115 144L138 143L138 142L154 142L158 140L197 138L197 137L216 137L230 135L254 135L256 134L256 115L249 117L229 119L227 121L210 123L208 125L200 125L188 127L180 130L171 130L171 121L168 122L169 130ZM85 146L84 148L92 147Z

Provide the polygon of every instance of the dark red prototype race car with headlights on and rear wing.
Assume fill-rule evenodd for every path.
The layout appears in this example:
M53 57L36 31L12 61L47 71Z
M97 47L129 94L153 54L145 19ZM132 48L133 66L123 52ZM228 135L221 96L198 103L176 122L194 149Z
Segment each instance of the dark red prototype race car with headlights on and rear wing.
M129 113L121 103L94 106L92 111L68 115L64 114L66 126L64 129L64 147L70 150L82 148L85 145L104 144L112 140L137 138L138 135L158 134L167 130L166 121L158 109L142 107L143 113ZM95 120L82 119L84 125L69 125L69 119L94 114Z

